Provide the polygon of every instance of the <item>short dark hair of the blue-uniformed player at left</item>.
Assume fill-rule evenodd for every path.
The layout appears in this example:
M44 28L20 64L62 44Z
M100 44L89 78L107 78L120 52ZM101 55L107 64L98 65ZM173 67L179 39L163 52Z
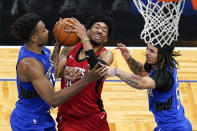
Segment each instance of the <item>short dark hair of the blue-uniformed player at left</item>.
M22 42L29 41L39 21L40 17L38 15L27 13L15 21L11 26L11 33Z

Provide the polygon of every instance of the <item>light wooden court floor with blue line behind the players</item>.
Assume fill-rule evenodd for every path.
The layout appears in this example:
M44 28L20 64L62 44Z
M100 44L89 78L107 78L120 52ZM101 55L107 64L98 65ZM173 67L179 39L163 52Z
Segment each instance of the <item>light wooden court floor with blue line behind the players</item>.
M129 71L120 52L111 48L109 50L115 57L112 67ZM177 50L182 53L177 59L180 63L178 76L181 102L186 116L192 123L193 131L197 131L197 48L177 48ZM19 47L0 48L0 130L2 131L11 131L10 114L17 100L15 65L18 51ZM145 58L145 48L132 48L130 51L136 59L144 61L142 58ZM55 89L60 89L59 80ZM153 114L148 110L146 90L136 90L119 79L109 78L104 84L102 99L111 131L152 131L156 126ZM51 113L55 119L57 108Z

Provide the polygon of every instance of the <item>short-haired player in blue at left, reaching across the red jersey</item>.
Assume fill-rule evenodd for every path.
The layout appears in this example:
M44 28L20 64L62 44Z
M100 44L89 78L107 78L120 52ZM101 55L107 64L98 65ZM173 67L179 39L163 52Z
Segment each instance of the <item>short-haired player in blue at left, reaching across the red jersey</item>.
M67 101L88 83L96 80L95 70L86 69L85 77L61 91L54 91L54 65L61 45L56 42L53 55L44 45L48 30L35 14L25 14L12 25L12 34L24 42L16 65L18 98L10 117L13 131L55 131L50 107ZM99 68L98 70L100 70Z

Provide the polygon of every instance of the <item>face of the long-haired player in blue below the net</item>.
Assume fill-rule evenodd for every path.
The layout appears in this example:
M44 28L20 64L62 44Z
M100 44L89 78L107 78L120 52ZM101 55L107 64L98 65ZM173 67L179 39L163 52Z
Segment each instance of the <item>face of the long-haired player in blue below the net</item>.
M151 44L148 44L146 48L146 62L151 65L158 62L158 49Z

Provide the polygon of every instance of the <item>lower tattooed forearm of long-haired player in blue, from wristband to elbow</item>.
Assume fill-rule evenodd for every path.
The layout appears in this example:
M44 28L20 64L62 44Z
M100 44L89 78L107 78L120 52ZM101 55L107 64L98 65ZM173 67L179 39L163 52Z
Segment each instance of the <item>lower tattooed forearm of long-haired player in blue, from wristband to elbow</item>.
M136 89L154 88L154 81L150 77L141 77L121 70L117 70L117 77Z

